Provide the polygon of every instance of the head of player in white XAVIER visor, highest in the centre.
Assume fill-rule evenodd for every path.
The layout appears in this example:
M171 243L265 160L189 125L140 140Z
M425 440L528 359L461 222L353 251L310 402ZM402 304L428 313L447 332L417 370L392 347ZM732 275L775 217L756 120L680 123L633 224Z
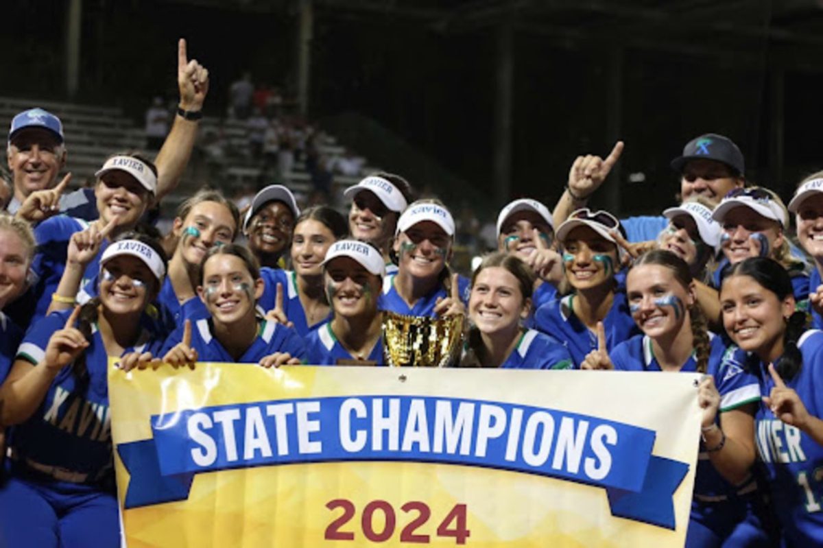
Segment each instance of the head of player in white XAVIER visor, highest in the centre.
M412 199L412 187L400 175L376 173L346 188L343 196L351 199L351 237L374 244L383 253L388 273L397 272L389 251L398 218Z

